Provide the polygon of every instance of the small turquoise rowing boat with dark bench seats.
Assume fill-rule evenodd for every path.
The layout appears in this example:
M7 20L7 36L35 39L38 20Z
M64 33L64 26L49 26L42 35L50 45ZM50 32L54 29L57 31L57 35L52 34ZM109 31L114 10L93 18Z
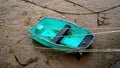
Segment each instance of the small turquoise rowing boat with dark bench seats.
M88 48L95 35L79 24L43 17L29 29L30 36L51 49L72 53Z

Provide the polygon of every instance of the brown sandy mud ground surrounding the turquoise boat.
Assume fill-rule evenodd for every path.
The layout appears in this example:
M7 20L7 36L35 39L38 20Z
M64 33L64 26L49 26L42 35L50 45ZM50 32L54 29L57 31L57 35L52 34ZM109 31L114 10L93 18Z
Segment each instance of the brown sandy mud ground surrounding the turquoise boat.
M100 26L95 13L99 11ZM120 28L120 1L0 0L0 68L120 68L119 52L87 53L77 60L74 55L32 48L41 45L29 37L28 29L42 16L79 23L88 29ZM96 35L92 48L120 49L119 40L120 33Z

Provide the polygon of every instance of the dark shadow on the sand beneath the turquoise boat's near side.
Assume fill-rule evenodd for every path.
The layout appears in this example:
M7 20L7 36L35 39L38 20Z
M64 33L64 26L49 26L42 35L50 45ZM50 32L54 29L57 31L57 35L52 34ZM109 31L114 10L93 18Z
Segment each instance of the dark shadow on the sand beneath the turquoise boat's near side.
M82 53L82 55L80 55L80 53L64 53L64 52L60 52L60 51L56 51L56 50L53 50L53 49L49 49L48 47L32 40L32 43L35 47L38 47L38 48L35 48L36 51L39 51L41 54L43 54L44 56L51 56L51 57L54 57L55 59L71 59L71 60L82 60L82 59L87 59L89 58L92 53L88 53L88 52L85 52L85 53ZM89 48L92 48L92 46L90 46ZM52 58L52 59L54 59Z

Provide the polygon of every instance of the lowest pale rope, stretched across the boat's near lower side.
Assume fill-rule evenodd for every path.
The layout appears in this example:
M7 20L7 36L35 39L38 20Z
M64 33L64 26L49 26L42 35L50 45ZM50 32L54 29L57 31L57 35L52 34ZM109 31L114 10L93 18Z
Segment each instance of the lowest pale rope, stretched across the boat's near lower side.
M10 43L4 44L4 43L0 43L2 44L1 46L9 46L12 48L27 48L29 50L33 50L33 48L35 49L40 49L41 51L60 51L58 48L54 48L56 50L53 50L53 48L47 48L47 47L35 47L35 46L28 46L28 45L10 45ZM58 49L58 50L57 50ZM65 51L73 51L73 52L120 52L120 49L64 49Z

